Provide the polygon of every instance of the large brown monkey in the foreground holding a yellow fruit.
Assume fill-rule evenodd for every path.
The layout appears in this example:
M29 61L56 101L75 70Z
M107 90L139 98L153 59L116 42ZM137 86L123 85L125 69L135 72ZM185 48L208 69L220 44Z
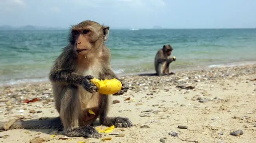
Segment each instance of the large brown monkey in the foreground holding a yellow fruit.
M73 25L69 36L69 44L55 60L49 79L55 99L58 118L40 121L16 121L14 128L62 128L69 137L100 138L102 135L91 126L99 117L101 124L115 127L131 127L130 119L107 117L111 104L109 95L100 94L98 87L90 82L97 79L116 78L122 83L121 95L128 86L119 79L110 66L110 50L106 47L109 27L90 20ZM95 115L89 114L92 110ZM3 128L3 123L0 123Z

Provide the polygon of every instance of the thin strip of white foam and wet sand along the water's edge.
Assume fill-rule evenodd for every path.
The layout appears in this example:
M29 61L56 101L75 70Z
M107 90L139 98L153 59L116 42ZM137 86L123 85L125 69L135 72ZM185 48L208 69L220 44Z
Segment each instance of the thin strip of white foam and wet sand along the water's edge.
M186 71L198 71L198 70L212 70L212 69L226 69L231 67L246 67L256 64L256 61L250 61L250 62L233 62L233 63L227 63L227 64L221 64L221 65L210 65L210 66L203 66L203 67L191 67L188 69L174 69L171 70L172 72L186 72ZM156 76L154 70L149 70L145 72L132 72L132 73L122 73L122 74L116 74L118 77L133 77L133 76ZM1 87L17 87L17 86L26 86L28 84L38 85L38 84L47 84L50 83L50 81L38 81L38 82L25 82L25 83L17 83L17 84L4 84Z

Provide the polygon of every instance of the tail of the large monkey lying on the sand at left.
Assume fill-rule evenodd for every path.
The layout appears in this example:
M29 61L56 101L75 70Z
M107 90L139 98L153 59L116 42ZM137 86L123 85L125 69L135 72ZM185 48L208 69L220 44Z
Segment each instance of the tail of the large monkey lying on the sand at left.
M4 124L7 122L0 122L0 130L5 130L3 128ZM50 129L50 128L63 128L61 123L61 118L50 118L45 120L19 120L15 121L9 129Z

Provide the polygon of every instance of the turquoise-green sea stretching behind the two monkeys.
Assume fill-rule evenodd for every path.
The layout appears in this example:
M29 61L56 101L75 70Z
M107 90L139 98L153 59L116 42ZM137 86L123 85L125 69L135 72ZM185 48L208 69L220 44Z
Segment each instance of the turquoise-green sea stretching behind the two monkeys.
M69 30L0 31L0 86L48 80ZM154 56L173 47L171 71L256 61L256 29L110 30L106 45L116 74L154 72Z

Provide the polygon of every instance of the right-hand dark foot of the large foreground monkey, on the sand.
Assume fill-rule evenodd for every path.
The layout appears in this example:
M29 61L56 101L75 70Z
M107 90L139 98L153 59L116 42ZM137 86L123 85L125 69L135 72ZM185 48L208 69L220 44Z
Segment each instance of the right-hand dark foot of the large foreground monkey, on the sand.
M129 118L123 118L123 117L114 117L114 118L106 118L104 121L105 126L112 126L114 125L115 128L128 128L133 126Z

